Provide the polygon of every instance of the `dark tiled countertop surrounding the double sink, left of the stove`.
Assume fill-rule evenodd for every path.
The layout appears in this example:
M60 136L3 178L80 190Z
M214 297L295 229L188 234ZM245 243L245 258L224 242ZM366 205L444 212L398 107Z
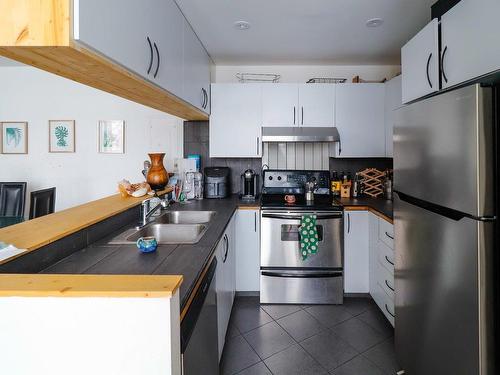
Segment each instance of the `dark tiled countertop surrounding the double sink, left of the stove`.
M257 203L243 203L236 195L226 199L204 199L187 204L172 205L169 210L216 211L208 230L201 240L193 245L159 245L156 252L142 254L135 244L111 245L108 240L132 227L123 227L110 236L82 249L44 269L42 273L56 274L142 274L183 275L180 287L181 310L208 261L213 255L219 239L238 207L254 207Z

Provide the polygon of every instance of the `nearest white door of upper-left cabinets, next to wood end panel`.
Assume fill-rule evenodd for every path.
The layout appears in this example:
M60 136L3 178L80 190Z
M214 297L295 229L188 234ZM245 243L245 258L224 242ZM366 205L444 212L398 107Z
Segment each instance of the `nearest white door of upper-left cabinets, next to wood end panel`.
M155 3L153 0L75 1L78 22L74 38L150 79L156 66L151 35Z

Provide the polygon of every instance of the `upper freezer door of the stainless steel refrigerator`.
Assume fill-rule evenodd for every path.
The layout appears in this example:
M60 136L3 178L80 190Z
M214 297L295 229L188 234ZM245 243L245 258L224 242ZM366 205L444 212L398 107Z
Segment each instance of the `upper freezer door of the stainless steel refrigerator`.
M469 215L493 215L492 94L473 85L399 109L394 190Z

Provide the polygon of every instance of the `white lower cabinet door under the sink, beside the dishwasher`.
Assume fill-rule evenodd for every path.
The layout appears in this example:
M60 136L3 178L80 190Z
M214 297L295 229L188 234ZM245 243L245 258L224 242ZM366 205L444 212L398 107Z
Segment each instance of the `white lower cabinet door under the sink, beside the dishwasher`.
M215 251L219 360L224 350L236 287L235 217L233 215Z

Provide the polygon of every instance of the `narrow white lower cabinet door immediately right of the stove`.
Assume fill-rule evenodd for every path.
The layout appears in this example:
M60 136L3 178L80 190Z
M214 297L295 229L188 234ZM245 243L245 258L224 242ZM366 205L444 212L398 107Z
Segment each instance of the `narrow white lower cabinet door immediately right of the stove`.
M368 293L368 211L346 211L344 216L344 292Z

